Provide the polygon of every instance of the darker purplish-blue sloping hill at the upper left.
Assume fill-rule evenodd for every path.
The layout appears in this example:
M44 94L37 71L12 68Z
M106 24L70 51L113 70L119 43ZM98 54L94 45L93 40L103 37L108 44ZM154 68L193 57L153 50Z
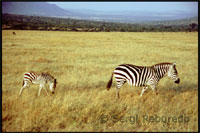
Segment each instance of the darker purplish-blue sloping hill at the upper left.
M70 12L47 2L2 2L2 12L36 16L67 16Z

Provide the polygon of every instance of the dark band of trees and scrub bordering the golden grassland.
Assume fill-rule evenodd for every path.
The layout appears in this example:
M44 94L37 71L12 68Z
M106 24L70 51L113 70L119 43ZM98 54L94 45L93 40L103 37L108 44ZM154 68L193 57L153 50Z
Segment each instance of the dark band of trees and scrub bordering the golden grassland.
M2 29L79 32L191 32L198 31L198 24L128 24L79 20L71 18L2 14Z

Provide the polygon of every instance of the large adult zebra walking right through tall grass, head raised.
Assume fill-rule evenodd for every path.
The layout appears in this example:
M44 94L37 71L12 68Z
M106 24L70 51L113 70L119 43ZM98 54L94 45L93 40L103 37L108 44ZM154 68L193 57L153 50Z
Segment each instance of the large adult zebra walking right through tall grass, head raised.
M131 64L122 64L115 68L112 76L107 84L107 90L112 85L113 75L116 79L116 95L119 98L119 89L128 82L132 86L144 86L140 96L147 90L148 86L153 91L161 78L164 76L170 77L175 83L179 84L178 72L176 70L176 63L160 63L153 66L135 66Z

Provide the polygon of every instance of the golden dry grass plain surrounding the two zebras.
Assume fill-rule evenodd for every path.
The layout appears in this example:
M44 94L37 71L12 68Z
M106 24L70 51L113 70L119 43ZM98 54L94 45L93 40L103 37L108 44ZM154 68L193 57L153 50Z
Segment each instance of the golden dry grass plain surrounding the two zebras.
M198 130L198 33L12 32L2 31L3 131ZM125 84L119 100L114 85L106 90L117 65L160 62L177 63L179 85L165 77L158 95L139 97ZM19 97L26 71L51 73L55 94L37 97L33 85Z

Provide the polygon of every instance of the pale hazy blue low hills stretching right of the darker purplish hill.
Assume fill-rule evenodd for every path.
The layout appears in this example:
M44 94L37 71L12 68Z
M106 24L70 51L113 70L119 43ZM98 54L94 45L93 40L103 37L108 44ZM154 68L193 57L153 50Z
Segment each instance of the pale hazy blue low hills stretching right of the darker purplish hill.
M71 18L87 19L105 22L120 22L120 23L143 23L154 21L172 21L181 20L186 18L197 17L189 12L181 11L138 11L138 10L125 10L125 11L98 11L88 9L70 9L73 14Z

